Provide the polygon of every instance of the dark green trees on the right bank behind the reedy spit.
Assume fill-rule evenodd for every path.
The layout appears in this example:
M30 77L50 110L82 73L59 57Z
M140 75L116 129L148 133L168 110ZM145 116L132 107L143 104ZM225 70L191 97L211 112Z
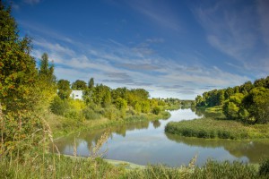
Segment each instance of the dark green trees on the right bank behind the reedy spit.
M204 92L195 98L196 107L222 106L228 119L247 124L269 122L269 76L254 83L247 81L240 86Z

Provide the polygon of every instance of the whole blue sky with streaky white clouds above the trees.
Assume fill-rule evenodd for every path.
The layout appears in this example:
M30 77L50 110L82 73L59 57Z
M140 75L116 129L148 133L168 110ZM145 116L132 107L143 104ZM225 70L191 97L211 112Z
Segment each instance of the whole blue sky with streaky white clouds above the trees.
M58 80L193 99L269 75L266 0L18 0L13 16Z

